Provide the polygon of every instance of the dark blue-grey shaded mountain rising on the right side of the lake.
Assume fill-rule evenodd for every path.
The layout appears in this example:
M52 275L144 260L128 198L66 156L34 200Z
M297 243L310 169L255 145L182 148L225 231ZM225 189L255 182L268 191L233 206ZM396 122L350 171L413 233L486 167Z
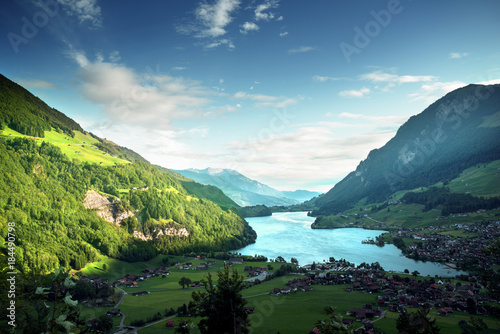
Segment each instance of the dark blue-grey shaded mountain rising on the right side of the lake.
M336 214L361 200L384 202L399 190L447 182L500 159L500 85L468 85L412 116L356 170L315 199L312 215Z

